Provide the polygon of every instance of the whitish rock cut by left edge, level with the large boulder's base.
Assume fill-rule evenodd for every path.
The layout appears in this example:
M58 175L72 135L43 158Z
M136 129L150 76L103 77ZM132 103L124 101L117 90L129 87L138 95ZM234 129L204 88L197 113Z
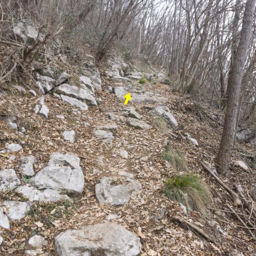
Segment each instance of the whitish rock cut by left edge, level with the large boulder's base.
M0 191L12 190L20 185L14 169L4 169L0 171Z

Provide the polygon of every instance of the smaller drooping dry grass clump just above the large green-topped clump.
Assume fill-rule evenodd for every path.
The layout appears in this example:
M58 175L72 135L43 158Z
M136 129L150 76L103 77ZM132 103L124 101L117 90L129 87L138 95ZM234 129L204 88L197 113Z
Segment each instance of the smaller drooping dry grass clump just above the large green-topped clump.
M175 170L181 172L188 171L186 159L179 149L174 150L170 145L165 146L163 159Z

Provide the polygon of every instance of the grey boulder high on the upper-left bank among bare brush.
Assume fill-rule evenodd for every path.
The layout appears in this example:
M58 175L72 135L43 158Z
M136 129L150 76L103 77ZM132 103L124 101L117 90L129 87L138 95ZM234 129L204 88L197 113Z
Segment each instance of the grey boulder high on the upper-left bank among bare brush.
M12 31L18 41L30 46L35 44L38 36L38 31L34 28L33 23L25 19L15 19Z

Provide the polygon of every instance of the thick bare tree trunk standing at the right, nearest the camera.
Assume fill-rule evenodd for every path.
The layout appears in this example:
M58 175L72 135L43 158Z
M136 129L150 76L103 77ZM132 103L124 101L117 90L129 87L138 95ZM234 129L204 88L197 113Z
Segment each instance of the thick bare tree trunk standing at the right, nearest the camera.
M223 174L228 174L231 153L236 136L239 93L241 89L244 64L252 34L252 20L255 9L255 1L256 0L247 0L246 2L240 41L234 56L233 65L229 70L227 85L227 110L220 148L218 155L215 158L216 168Z

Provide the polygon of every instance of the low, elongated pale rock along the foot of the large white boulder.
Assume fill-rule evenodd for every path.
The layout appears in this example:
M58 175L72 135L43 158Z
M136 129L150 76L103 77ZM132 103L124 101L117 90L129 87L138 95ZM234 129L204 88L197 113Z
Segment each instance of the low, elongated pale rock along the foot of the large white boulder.
M70 198L67 195L61 195L56 190L44 189L41 191L29 185L18 187L16 189L16 192L28 198L30 202L56 202L70 200Z

